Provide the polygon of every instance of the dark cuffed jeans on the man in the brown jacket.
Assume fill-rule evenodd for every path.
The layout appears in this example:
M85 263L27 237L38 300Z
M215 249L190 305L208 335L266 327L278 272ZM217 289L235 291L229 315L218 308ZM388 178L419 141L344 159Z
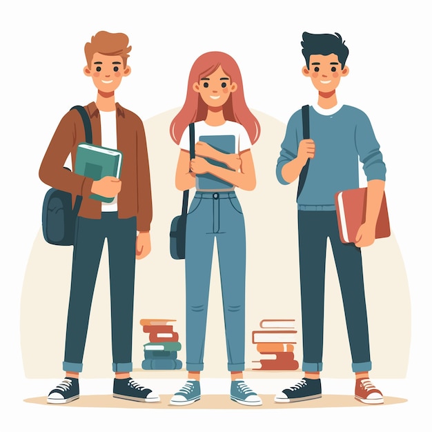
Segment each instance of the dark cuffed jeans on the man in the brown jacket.
M78 217L63 371L81 372L88 320L102 248L108 240L111 299L112 371L132 371L132 315L137 219L117 212L101 219Z

